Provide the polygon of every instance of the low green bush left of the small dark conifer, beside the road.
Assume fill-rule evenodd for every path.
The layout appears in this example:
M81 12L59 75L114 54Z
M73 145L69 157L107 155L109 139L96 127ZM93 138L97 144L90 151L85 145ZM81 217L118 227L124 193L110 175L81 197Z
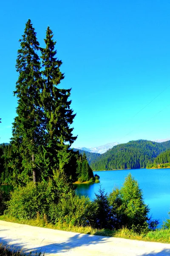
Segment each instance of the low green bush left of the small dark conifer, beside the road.
M53 224L66 222L69 225L94 226L96 211L96 204L91 202L88 197L79 197L70 193L60 198L58 204L51 204L49 220Z

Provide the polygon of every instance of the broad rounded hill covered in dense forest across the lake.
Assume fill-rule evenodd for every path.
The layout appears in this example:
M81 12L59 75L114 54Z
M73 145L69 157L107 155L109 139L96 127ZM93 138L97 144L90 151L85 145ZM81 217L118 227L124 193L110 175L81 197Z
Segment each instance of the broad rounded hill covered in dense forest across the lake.
M156 143L147 140L119 144L91 161L93 170L138 169L153 163L155 157L170 148L170 141Z

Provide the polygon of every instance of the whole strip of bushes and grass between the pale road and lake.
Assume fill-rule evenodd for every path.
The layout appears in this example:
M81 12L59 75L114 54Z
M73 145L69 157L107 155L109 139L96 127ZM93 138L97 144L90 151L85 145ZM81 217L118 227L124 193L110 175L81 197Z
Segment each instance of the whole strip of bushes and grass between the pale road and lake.
M62 176L63 178L63 176ZM170 220L157 229L142 191L129 174L121 189L107 195L100 187L94 201L76 195L72 184L54 182L18 186L7 197L0 220L58 230L144 241L170 242ZM1 190L1 198L4 191Z

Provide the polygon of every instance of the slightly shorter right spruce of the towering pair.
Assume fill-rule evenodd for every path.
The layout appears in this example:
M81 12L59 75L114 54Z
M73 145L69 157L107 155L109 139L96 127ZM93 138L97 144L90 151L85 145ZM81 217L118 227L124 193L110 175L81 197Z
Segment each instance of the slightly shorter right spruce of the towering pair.
M53 32L49 26L44 41L46 47L41 48L43 67L41 100L45 114L45 130L47 131L44 162L49 174L54 170L66 171L72 154L68 148L77 137L73 136L73 128L70 127L75 117L70 108L71 100L68 100L71 89L59 89L57 87L60 81L64 79L64 75L60 71L62 61L56 57L57 50L54 49L56 41L53 40Z

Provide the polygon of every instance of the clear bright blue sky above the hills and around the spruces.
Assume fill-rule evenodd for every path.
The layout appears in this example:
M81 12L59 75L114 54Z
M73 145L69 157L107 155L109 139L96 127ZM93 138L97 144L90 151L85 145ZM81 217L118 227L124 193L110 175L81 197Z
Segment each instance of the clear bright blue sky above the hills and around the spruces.
M170 138L169 0L8 0L0 8L0 143L9 142L18 40L50 26L63 61L76 147Z

